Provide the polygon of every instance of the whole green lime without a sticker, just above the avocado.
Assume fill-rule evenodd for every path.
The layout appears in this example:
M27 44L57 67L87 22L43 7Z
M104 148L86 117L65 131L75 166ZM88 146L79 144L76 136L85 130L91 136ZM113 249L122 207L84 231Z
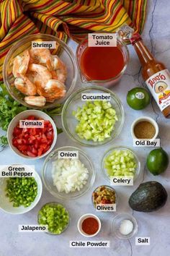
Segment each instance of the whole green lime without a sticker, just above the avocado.
M153 175L158 175L166 171L169 165L169 155L162 148L151 150L148 154L146 166Z

